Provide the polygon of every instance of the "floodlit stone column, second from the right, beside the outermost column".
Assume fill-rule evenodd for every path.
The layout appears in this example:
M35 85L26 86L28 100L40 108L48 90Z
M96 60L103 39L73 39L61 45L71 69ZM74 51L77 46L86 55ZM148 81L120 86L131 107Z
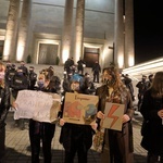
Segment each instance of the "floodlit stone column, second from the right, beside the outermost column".
M124 67L124 10L123 0L115 0L115 28L114 28L114 63L118 65L120 68Z

